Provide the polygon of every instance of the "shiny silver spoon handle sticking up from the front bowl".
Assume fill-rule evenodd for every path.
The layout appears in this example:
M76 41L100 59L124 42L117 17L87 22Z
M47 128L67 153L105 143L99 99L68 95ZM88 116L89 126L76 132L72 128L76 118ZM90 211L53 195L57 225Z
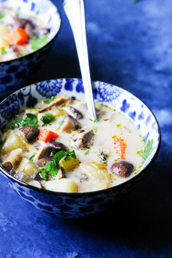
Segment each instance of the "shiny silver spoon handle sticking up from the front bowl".
M93 100L85 30L85 9L83 0L65 0L63 7L71 25L78 53L81 75L88 111L91 119L97 118Z

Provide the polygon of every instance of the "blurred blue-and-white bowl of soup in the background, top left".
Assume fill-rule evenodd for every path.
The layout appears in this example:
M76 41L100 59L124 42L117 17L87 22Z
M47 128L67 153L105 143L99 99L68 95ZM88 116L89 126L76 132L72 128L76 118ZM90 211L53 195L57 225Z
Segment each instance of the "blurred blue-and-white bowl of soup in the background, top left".
M22 87L40 68L60 24L50 0L0 1L0 98Z

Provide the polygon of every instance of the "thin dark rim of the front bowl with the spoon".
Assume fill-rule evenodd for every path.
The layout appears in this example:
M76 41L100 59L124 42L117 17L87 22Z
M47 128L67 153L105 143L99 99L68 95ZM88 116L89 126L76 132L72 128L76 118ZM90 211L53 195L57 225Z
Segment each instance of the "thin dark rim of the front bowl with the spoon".
M56 78L56 79L48 79L48 80L65 80L65 79L81 79L82 78ZM7 96L4 100L2 100L0 102L0 105L7 99L9 98L10 96L12 96L13 94L16 94L18 93L20 90L22 89L25 89L25 88L29 88L30 86L34 86L35 84L37 83L42 83L42 82L46 82L48 80L44 80L44 81L41 81L41 82L35 82L34 84L31 84L31 85L28 85L28 86L25 86L15 92L13 92L12 94L10 94L9 96ZM92 82L97 82L98 80L93 80ZM101 82L101 81L98 81L98 82ZM104 82L103 82L104 83ZM108 83L108 84L111 84L111 83ZM111 84L113 85L113 84ZM113 86L116 86L116 85L113 85ZM119 86L116 86L116 87L119 87ZM121 88L121 87L119 87ZM152 157L152 159L150 160L150 162L145 166L145 168L140 171L138 174L136 174L135 176L133 176L132 178L126 180L125 182L121 183L121 184L118 184L116 186L112 186L112 187L109 187L109 188L106 188L106 189L102 189L102 190L98 190L98 191L91 191L91 192L54 192L54 191L50 191L50 190L46 190L44 188L37 188L35 186L32 186L30 184L27 184L25 182L22 182L20 181L19 179L16 179L14 178L12 175L10 175L7 171L5 171L5 169L3 168L3 166L1 165L0 163L0 172L2 172L2 174L5 174L8 178L10 178L11 180L13 180L14 182L17 182L18 184L20 184L21 186L24 186L26 188L29 188L31 190L35 190L37 192L42 192L42 193L45 193L45 194L48 194L48 195L54 195L54 196L72 196L72 197L82 197L82 196L91 196L91 195L97 195L97 194L101 194L103 192L109 192L109 191L114 191L114 190L117 190L120 189L120 188L124 188L127 184L131 184L132 182L134 181L137 181L142 175L143 173L145 173L148 168L152 165L152 163L154 162L154 160L156 159L158 153L159 153L159 149L160 149L160 145L161 145L161 131L160 131L160 126L159 126L159 123L158 123L158 120L157 118L155 117L154 113L152 112L152 110L147 106L147 104L145 104L145 102L143 102L140 98L138 98L136 95L132 94L131 92L121 88L122 90L130 93L132 96L134 96L135 98L137 98L139 101L141 101L142 103L144 103L144 105L148 108L148 110L152 113L156 123L157 123L157 126L158 126L158 135L159 135L159 138L158 138L158 145L157 145L157 149L156 149L156 152L154 154L154 156Z

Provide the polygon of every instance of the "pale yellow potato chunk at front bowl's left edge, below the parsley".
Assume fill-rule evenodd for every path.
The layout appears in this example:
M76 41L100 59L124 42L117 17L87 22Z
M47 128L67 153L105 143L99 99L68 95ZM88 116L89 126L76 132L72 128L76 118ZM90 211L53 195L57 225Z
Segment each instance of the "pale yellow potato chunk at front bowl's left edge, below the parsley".
M8 154L12 150L19 148L21 148L22 151L26 151L25 144L22 141L20 141L18 135L13 130L10 130L7 134L4 135L4 137L5 136L7 136L7 139L1 150L2 155Z

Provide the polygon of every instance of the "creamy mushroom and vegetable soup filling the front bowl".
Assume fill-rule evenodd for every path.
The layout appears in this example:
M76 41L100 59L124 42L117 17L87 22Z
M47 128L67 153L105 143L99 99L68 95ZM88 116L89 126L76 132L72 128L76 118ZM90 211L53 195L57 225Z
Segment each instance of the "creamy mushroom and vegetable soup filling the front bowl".
M139 172L145 142L120 112L96 103L52 97L15 116L2 135L0 158L15 178L59 192L88 192L116 186Z

